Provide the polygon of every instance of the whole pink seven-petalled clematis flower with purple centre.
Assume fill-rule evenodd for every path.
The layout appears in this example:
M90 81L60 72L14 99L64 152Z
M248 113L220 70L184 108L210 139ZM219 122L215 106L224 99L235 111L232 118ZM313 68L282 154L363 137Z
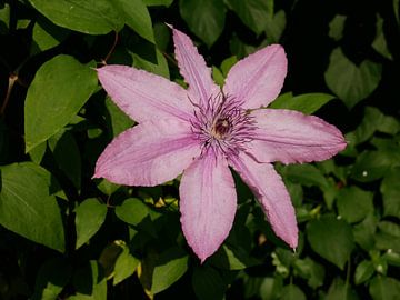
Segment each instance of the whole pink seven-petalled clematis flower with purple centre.
M204 261L233 223L237 193L231 167L253 191L276 234L296 248L294 209L271 162L329 159L344 149L342 133L317 117L260 109L282 88L287 58L281 46L269 46L239 61L221 90L190 38L172 30L188 89L130 67L98 69L111 99L139 124L106 148L94 178L157 186L183 172L179 189L182 230Z

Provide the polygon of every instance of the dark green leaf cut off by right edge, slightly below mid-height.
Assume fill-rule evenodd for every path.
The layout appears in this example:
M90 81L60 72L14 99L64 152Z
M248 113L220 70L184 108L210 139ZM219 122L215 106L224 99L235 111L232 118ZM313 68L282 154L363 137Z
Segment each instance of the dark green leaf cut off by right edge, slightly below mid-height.
M391 168L383 177L380 192L383 197L383 216L400 219L400 168Z

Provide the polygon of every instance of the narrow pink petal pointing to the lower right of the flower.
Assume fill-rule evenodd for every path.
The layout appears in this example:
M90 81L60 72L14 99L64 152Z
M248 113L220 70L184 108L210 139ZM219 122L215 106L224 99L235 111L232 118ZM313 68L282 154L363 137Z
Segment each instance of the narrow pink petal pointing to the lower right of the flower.
M273 166L258 163L246 153L230 158L230 164L258 198L276 234L294 249L298 244L294 209Z

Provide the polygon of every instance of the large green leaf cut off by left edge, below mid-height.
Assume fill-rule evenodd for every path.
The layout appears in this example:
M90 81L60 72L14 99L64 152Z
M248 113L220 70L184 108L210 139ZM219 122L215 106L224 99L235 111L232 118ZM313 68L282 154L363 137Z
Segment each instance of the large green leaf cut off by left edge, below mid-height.
M32 162L0 168L0 223L51 249L64 251L60 209L51 190L54 179Z

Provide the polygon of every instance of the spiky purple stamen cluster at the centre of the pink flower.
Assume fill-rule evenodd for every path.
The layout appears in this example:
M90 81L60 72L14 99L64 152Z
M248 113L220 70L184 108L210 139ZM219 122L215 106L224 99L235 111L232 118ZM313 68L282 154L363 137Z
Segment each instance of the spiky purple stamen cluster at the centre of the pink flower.
M192 132L202 143L203 151L212 148L214 152L229 157L238 154L244 143L252 140L254 121L241 108L241 101L218 93L210 97L204 106L193 106Z

